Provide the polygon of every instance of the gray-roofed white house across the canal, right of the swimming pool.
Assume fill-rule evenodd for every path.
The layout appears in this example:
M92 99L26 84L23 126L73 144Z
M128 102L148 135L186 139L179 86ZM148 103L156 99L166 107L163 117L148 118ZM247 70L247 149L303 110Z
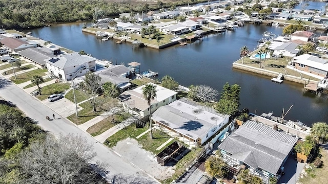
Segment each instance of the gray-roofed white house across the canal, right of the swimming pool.
M278 45L275 48L272 48L274 50L273 55L279 56L287 56L287 57L295 57L299 53L299 44L294 42L280 42L281 45Z

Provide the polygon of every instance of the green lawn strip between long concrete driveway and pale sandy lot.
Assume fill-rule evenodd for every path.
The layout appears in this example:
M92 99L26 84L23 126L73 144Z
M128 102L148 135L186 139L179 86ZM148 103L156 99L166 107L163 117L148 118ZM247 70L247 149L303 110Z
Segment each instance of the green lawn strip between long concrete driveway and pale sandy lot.
M138 135L140 135L142 132L145 132L149 127L146 125L143 128L136 128L135 124L132 123L130 126L127 126L126 128L123 128L116 132L114 135L108 137L108 139L105 141L105 144L113 148L116 146L117 142L121 140L125 140L128 137L135 139Z

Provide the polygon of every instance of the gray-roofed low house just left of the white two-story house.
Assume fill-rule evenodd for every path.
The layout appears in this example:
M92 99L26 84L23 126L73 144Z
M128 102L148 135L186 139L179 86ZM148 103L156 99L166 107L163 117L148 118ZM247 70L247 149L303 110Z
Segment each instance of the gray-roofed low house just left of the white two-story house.
M35 64L39 64L43 67L46 67L45 59L56 57L51 49L40 47L25 49L23 51L19 51L18 53L24 58L29 59Z

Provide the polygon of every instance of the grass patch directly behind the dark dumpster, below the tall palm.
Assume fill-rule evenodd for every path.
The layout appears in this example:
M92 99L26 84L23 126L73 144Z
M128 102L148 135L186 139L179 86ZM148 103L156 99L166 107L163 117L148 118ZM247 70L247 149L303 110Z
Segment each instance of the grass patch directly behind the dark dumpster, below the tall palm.
M164 135L163 135L164 134ZM166 147L163 147L160 150L156 150L160 145L167 142L170 138L169 135L166 135L164 132L160 133L159 130L153 130L153 138L150 139L150 131L145 135L142 135L139 139L137 139L138 143L142 145L142 149L152 152L157 155Z

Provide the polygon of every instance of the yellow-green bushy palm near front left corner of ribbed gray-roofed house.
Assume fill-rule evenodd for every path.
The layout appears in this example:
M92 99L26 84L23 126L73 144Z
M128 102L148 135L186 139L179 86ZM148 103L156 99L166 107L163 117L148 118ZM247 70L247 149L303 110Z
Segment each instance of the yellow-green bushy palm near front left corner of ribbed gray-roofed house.
M226 175L227 170L224 169L225 167L227 167L227 164L217 156L210 156L205 161L205 171L212 176L223 177Z

